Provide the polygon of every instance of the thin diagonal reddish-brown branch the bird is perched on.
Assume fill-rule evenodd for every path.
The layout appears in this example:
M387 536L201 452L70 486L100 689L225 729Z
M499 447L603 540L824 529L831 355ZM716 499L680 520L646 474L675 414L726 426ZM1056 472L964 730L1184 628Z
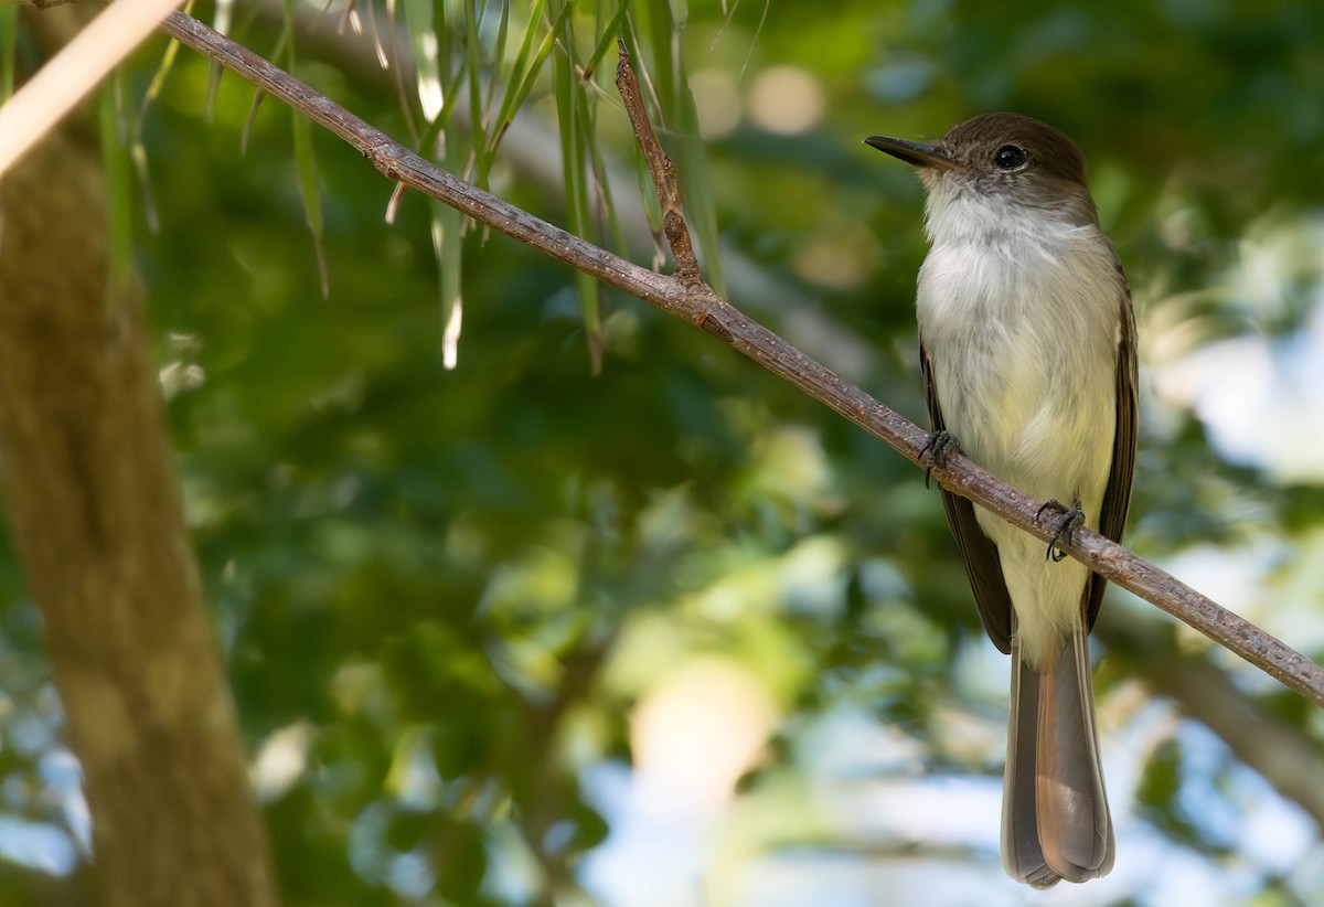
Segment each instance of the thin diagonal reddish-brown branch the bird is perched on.
M886 441L911 462L932 466L924 454L928 442L925 430L751 320L702 279L686 281L639 267L457 179L326 95L189 16L172 12L162 28L320 123L355 147L389 179L438 199L511 238L702 327ZM624 57L622 66L629 68ZM945 467L932 466L932 471L951 491L974 501L1045 543L1053 538L1053 514L1042 520L1037 518L1041 502L990 475L968 458L952 457ZM1062 547L1100 576L1158 605L1324 707L1324 669L1254 624L1221 608L1098 532L1083 528L1075 534L1072 544Z

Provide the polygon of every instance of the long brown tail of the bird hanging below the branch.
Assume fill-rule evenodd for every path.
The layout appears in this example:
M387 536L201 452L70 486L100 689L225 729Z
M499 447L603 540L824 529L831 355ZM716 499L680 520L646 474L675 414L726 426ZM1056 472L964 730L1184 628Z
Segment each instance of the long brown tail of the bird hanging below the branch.
M1012 878L1047 888L1107 875L1112 855L1084 629L1039 669L1022 661L1013 634L1002 865Z

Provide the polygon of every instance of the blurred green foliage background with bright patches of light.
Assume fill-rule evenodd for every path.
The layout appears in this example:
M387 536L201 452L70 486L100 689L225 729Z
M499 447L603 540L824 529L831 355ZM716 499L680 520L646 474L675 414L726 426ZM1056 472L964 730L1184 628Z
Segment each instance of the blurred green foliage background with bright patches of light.
M195 9L650 265L626 34L710 279L920 422L920 185L862 139L1062 128L1136 303L1127 542L1324 657L1312 0L289 12ZM113 233L287 903L1324 903L1320 712L1116 589L1116 869L1009 881L1008 661L919 470L688 324L416 193L388 208L357 154L189 50L144 105L166 46L106 89ZM85 869L89 817L0 542L0 899L25 903Z

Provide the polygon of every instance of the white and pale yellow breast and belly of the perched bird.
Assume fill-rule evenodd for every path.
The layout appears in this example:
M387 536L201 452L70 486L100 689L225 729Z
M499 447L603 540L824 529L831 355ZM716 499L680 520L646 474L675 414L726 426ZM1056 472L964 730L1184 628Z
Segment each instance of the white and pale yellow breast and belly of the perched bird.
M919 331L947 429L967 455L1041 501L1079 501L1098 527L1116 428L1121 282L1096 226L1050 213L931 191ZM976 514L998 547L1022 645L1027 654L1050 645L1079 613L1088 573L1046 569L1043 543Z

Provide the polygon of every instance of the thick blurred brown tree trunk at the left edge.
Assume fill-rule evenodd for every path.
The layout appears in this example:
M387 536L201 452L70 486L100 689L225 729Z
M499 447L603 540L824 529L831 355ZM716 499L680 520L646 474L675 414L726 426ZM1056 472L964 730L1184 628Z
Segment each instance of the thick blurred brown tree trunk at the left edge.
M185 532L142 303L107 286L102 164L0 184L0 481L82 761L107 907L275 904Z

